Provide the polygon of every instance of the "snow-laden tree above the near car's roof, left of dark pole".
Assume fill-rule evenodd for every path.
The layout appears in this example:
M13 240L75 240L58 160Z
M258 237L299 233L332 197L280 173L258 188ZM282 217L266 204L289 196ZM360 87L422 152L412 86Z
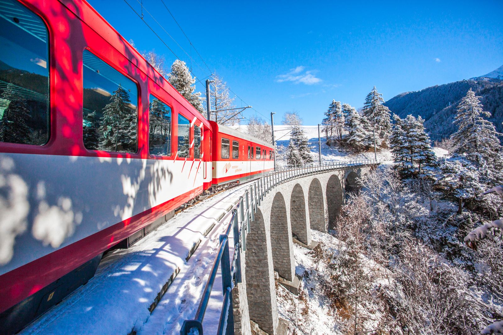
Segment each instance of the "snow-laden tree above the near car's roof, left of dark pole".
M196 78L192 77L184 61L177 59L171 65L171 72L167 77L173 87L189 101L199 113L204 114L201 92L194 92Z

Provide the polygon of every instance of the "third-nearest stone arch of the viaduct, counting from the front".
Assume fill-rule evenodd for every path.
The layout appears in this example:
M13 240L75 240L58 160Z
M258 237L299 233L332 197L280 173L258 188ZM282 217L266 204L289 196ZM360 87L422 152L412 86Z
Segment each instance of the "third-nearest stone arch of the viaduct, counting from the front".
M311 243L311 229L309 221L306 217L306 200L304 198L304 190L300 184L295 184L290 196L290 222L293 235L297 239L309 245Z

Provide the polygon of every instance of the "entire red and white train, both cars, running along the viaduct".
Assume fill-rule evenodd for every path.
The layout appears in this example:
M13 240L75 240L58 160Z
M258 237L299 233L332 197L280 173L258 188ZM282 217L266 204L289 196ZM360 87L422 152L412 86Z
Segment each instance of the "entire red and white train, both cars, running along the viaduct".
M0 0L0 332L271 144L206 120L83 0Z

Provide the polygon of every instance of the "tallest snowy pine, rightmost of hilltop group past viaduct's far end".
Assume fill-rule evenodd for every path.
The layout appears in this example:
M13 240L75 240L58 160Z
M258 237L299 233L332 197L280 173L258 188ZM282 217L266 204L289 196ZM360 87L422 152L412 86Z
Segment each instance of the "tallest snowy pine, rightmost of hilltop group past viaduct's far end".
M380 138L382 145L387 145L388 136L391 131L390 111L383 105L382 94L374 86L367 94L363 105L363 116L370 122L370 127L376 129L376 136Z

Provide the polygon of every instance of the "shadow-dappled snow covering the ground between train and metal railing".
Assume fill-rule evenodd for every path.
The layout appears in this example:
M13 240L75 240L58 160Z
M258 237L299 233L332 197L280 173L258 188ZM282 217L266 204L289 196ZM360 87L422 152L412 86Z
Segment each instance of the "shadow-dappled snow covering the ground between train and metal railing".
M171 334L196 314L199 300L229 223L229 207L246 184L223 191L177 214L129 249L104 258L96 275L28 325L22 334ZM218 222L217 219L224 215ZM208 236L206 232L215 227ZM186 262L189 251L201 240ZM233 246L232 238L229 246ZM232 248L230 248L232 258ZM175 271L180 271L150 314L148 307ZM220 271L203 321L215 333L222 306Z

